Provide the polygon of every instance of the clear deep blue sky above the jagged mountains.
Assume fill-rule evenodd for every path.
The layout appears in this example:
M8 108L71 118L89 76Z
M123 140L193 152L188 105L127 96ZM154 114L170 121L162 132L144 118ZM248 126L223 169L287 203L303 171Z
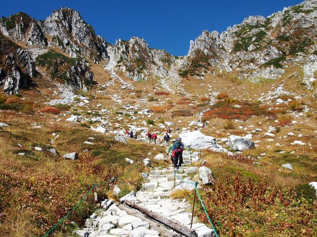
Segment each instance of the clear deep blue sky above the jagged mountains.
M107 42L143 37L149 47L186 55L203 30L222 32L250 15L267 17L302 0L3 0L0 16L45 19L62 6L79 11Z

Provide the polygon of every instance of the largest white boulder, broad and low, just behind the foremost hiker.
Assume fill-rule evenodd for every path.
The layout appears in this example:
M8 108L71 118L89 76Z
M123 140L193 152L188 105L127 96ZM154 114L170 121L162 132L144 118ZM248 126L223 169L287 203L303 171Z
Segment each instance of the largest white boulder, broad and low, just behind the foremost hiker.
M185 146L190 146L194 149L209 149L215 152L228 152L216 143L216 138L212 136L206 136L200 131L184 132L179 134L182 143Z

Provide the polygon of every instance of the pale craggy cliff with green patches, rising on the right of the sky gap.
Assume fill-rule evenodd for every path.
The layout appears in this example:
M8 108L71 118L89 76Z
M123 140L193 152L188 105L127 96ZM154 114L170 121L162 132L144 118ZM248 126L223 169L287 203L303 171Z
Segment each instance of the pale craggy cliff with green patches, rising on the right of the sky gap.
M203 77L214 69L238 72L240 79L275 79L289 63L304 61L315 50L317 0L284 8L264 18L251 16L226 31L203 31L190 42L180 75Z

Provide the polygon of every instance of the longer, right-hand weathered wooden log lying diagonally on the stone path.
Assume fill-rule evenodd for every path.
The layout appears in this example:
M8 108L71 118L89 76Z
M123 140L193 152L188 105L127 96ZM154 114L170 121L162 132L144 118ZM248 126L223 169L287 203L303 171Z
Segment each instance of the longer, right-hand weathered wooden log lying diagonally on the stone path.
M148 209L141 207L137 204L135 204L132 201L124 201L124 204L133 207L137 210L139 210L141 213L143 213L144 215L148 216L149 218L152 218L162 224L164 224L165 226L168 226L169 228L175 230L176 232L178 232L179 234L186 236L186 237L198 237L197 233L195 230L192 230L186 226L183 226L181 224L179 224L177 221L175 220L171 220L171 219L167 219L165 217L162 217L160 215L158 215L155 212L151 212Z

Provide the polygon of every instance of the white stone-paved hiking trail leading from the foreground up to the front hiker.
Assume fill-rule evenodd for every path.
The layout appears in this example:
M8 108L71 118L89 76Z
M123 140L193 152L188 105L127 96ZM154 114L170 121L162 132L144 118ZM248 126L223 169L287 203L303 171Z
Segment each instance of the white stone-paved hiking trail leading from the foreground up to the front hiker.
M191 183L199 180L200 170L191 165L198 157L191 157L192 154L184 151L184 164L177 171L173 167L151 166L150 172L140 174L141 190L130 192L120 203L111 199L102 201L102 208L86 220L85 228L74 233L80 237L216 236L212 229L198 222L195 213L190 228L193 209L190 200L170 198L177 190L195 192L195 185ZM143 163L150 165L150 160L145 159ZM196 174L194 179L190 174ZM201 186L198 184L197 188Z

